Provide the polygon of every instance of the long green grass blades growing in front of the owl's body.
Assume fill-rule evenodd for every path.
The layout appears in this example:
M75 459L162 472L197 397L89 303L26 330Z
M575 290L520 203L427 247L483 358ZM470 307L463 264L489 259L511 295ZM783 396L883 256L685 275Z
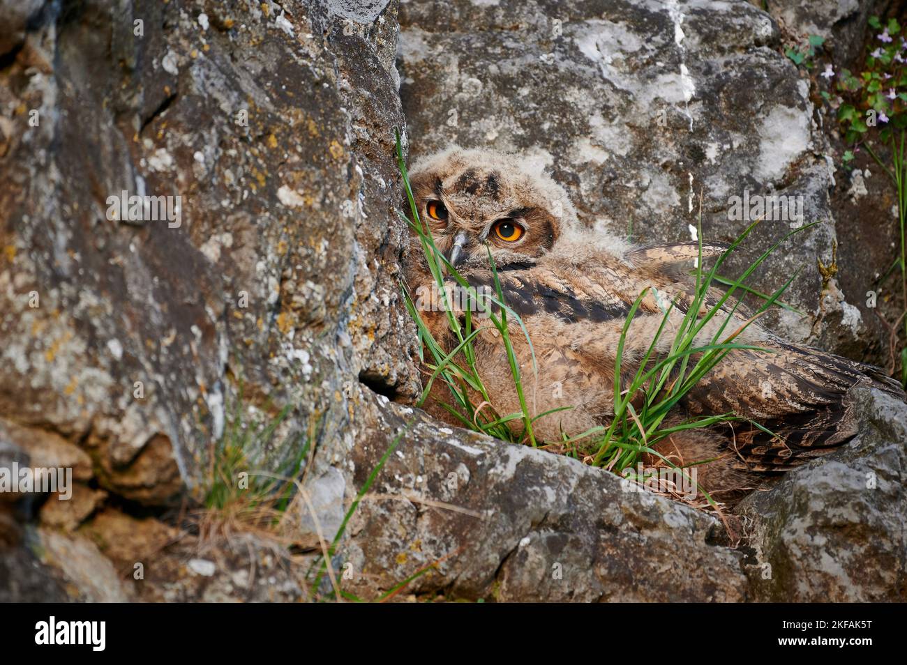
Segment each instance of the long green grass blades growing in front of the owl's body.
M405 221L414 229L421 241L424 257L429 266L431 275L438 287L438 293L441 295L444 303L443 309L447 316L447 322L455 341L455 346L448 351L434 339L432 332L423 322L412 297L407 292L405 285L404 296L409 313L413 317L419 334L420 342L420 359L425 366L431 371L431 375L424 391L418 401L421 406L429 397L429 393L434 385L434 381L442 381L449 389L453 404L442 403L445 410L450 412L454 418L460 421L467 429L481 431L490 434L498 439L510 442L525 442L532 446L537 445L532 432L532 423L557 410L550 410L533 416L526 406L523 398L522 376L519 365L515 361L516 354L513 352L512 340L510 337L509 318L518 323L522 332L532 350L532 340L529 339L529 333L520 317L507 307L503 299L501 283L491 253L489 252L489 265L492 270L495 284L496 297L483 300L473 286L467 283L462 275L459 275L453 268L447 258L434 245L434 240L427 226L424 226L419 211L415 205L412 188L410 187L409 176L406 171L403 159L403 150L400 145L400 138L397 135L396 156L401 177L403 178L406 198L409 203L412 219ZM735 342L741 332L753 323L756 318L764 313L769 307L778 303L778 299L785 292L787 287L793 282L794 276L788 279L774 294L760 294L754 289L747 287L746 279L753 274L756 268L761 265L766 258L771 255L775 249L785 240L795 233L799 233L806 228L818 224L809 224L794 229L787 233L780 240L750 265L743 275L736 280L727 279L717 275L718 268L725 263L727 257L731 255L738 246L744 241L750 231L756 226L757 222L748 226L746 230L736 238L722 255L720 255L711 270L704 271L702 256L702 227L701 227L701 207L699 211L699 252L697 268L695 271L696 288L692 301L687 304L687 311L679 325L669 326L673 332L673 338L670 341L670 350L666 355L659 355L655 352L658 342L662 342L668 335L668 321L674 309L678 306L675 300L662 307L663 317L658 328L658 333L649 345L649 350L643 356L639 367L629 378L629 382L621 379L621 361L622 352L629 333L630 324L639 310L639 305L648 293L649 289L644 290L636 301L632 304L624 324L619 340L619 351L616 358L614 371L614 416L607 426L599 426L572 437L562 436L561 441L546 442L546 448L555 448L571 454L575 458L580 458L587 464L597 467L606 468L619 475L632 474L633 467L636 467L639 461L645 455L654 455L659 458L663 464L674 468L694 467L698 464L704 464L712 460L696 460L678 467L674 462L658 453L654 446L662 439L666 439L673 434L689 429L704 429L713 427L719 423L730 423L741 420L733 413L717 414L697 419L689 419L679 424L666 425L668 415L676 411L678 402L697 385L699 381L712 371L715 366L722 361L727 354L737 350L767 351L761 347L750 344ZM445 277L446 275L446 277ZM460 322L451 306L450 296L444 288L445 279L453 280L468 294L467 301L469 306L463 307L463 323ZM715 284L724 284L727 290L717 300L717 303L706 307L707 295L710 294ZM730 299L738 294L736 302ZM738 325L735 330L727 330L728 323L734 319L733 315L737 312L746 294L756 294L761 296L765 301L755 315L748 318L745 322ZM492 311L488 304L490 300L498 308L498 313ZM659 298L657 298L659 300ZM473 321L473 309L483 312L485 318L493 329L500 334L504 350L510 363L514 387L520 400L521 411L510 414L499 414L493 409L493 398L485 390L482 377L476 369L475 349L473 341L480 332ZM700 312L705 311L705 314ZM702 344L699 338L707 323L712 321L717 315L724 317L724 322L717 328L717 332L712 335L708 343ZM719 319L720 321L720 319ZM532 352L532 367L535 370L535 355ZM477 397L476 397L477 396ZM475 400L479 401L476 402ZM634 407L634 404L639 404ZM491 406L489 406L491 405ZM569 407L568 407L569 408ZM561 410L561 409L558 409ZM514 434L509 427L509 423L514 420L522 420L522 432ZM771 434L771 432L756 422L752 424ZM701 491L701 487L698 487ZM715 505L707 493L709 504Z

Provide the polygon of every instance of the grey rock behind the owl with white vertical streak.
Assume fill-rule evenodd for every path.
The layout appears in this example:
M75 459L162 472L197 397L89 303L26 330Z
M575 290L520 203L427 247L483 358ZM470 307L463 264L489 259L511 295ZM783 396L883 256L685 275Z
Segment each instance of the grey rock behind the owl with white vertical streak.
M802 269L785 299L806 315L782 311L775 326L833 350L861 339L862 294L842 294L817 269L834 256L834 173L809 84L780 53L771 16L707 0L413 0L400 20L414 155L452 141L528 151L587 224L640 243L688 240L700 206L709 240L731 241L763 216L728 274L822 221L751 284L772 293ZM737 215L735 197L753 206Z

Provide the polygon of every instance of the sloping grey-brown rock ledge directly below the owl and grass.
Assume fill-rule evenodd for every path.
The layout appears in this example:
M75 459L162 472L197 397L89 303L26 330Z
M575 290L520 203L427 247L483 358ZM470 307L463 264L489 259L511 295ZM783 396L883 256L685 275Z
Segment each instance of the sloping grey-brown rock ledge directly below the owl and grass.
M412 422L412 417L410 417ZM391 429L403 426L399 418ZM385 452L357 448L356 484ZM541 450L415 419L350 523L354 593L497 601L746 599L717 520ZM481 545L479 545L481 544Z

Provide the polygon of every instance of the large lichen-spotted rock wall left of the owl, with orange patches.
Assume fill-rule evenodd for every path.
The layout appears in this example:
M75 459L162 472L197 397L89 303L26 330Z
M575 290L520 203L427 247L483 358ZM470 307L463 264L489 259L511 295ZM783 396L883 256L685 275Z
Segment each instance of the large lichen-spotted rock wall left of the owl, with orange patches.
M81 441L102 486L154 504L203 484L240 386L329 439L345 383L416 384L393 9L347 35L317 3L131 6L44 5L6 55L0 417ZM133 196L170 217L128 218Z

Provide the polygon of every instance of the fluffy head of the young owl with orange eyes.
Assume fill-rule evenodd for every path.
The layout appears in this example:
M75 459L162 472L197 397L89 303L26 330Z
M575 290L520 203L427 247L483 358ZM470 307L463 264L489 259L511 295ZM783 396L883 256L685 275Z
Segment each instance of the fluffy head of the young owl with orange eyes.
M410 181L423 227L458 269L487 265L488 250L498 265L537 258L579 226L567 192L517 155L453 146L419 160Z

